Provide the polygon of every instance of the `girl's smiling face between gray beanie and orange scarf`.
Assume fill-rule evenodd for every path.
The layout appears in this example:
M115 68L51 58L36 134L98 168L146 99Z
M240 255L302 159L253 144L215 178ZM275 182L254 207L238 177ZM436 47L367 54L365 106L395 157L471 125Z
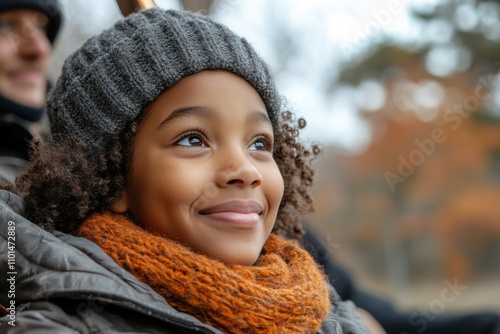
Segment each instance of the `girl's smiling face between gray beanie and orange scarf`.
M227 264L252 265L283 196L273 128L257 91L204 71L163 92L133 143L117 213Z

